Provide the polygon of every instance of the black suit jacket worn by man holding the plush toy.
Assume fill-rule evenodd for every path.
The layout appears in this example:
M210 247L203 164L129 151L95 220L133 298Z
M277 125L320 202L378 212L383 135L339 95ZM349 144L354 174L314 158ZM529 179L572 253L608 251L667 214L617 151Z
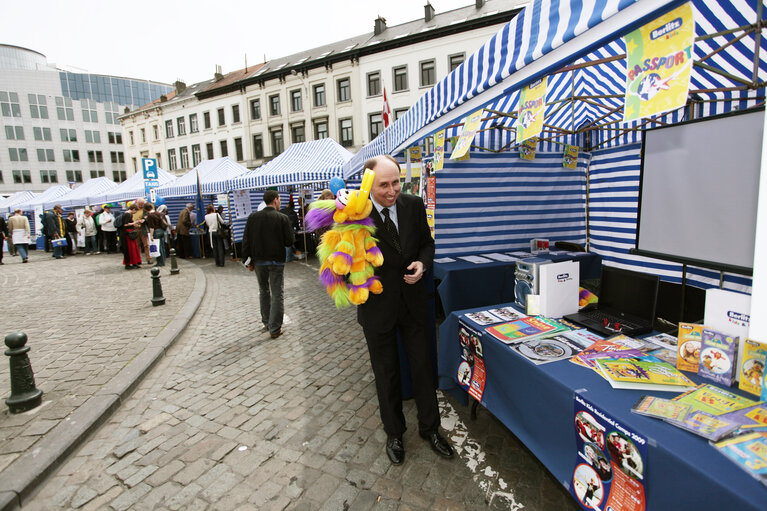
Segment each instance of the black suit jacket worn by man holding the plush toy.
M415 284L407 284L403 277L413 261L421 261L424 275L434 262L434 238L426 222L423 200L415 195L400 194L395 203L402 254L398 253L389 234L383 228L383 219L373 207L370 216L376 226L378 247L384 257L382 266L376 268L383 292L370 294L367 302L357 307L357 321L365 329L384 332L394 328L400 303L404 302L414 320L426 323L428 306L425 278Z

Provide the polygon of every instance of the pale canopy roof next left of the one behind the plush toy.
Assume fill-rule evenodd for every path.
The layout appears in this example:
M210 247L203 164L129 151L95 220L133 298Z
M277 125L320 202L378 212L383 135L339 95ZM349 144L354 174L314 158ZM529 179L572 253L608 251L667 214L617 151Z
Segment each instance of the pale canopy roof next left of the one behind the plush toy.
M197 195L197 176L199 175L201 193L226 193L232 190L231 181L240 174L247 172L243 167L228 156L205 160L195 168L175 181L160 186L157 194L161 197L190 197Z

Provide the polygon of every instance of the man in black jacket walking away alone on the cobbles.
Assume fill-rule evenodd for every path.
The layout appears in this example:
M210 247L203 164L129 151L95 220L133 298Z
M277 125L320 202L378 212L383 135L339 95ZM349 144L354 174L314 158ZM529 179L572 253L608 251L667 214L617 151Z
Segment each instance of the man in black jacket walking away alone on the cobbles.
M280 194L265 191L264 203L264 209L248 216L242 235L242 258L258 278L263 329L276 339L283 333L285 247L293 245L295 236L290 220L279 211Z

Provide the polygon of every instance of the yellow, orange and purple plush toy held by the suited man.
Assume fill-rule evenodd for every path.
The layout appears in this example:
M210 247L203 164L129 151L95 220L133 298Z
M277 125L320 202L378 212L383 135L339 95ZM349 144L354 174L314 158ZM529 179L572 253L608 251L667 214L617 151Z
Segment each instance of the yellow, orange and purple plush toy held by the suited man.
M336 307L365 303L370 293L379 294L383 286L374 268L383 264L383 254L373 237L370 218L373 203L368 199L374 172L365 169L359 190L340 189L336 200L312 203L306 214L309 230L333 227L322 235L317 256L322 261L320 282Z

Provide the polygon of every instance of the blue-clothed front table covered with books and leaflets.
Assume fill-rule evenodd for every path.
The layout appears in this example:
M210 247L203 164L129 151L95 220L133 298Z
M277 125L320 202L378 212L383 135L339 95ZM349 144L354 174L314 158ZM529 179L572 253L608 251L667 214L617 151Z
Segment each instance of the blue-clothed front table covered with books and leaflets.
M502 304L511 305L511 304ZM440 389L464 402L456 374L460 357L458 319L451 313L439 331ZM475 325L476 326L476 325ZM647 510L767 509L767 488L692 433L631 413L640 396L670 398L672 392L614 390L596 373L570 361L536 366L482 331L486 384L482 405L517 436L565 487L576 456L573 395L576 390L648 439ZM690 376L688 374L688 376ZM692 375L696 383L704 380Z

